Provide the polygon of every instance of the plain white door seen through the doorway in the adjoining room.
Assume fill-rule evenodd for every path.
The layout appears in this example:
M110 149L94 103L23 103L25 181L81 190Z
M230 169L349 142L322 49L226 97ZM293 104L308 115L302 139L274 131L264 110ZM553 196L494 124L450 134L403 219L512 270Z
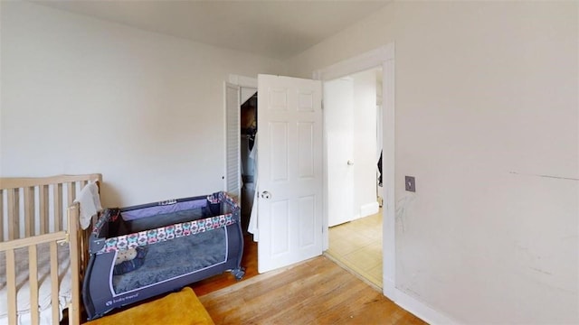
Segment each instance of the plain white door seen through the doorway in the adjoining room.
M351 78L324 83L327 131L327 226L354 218L354 84Z

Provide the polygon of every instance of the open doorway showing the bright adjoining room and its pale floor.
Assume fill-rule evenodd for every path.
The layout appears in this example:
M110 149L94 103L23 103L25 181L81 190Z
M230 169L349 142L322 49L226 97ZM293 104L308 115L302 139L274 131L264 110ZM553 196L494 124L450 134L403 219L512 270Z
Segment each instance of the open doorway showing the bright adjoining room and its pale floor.
M382 67L324 82L327 255L383 288Z

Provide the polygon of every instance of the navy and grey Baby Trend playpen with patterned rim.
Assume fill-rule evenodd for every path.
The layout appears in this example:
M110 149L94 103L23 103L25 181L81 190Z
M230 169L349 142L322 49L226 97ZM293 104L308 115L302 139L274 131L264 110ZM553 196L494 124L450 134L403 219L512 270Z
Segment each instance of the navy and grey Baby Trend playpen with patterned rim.
M225 192L106 209L83 283L89 319L230 271L241 279L240 208Z

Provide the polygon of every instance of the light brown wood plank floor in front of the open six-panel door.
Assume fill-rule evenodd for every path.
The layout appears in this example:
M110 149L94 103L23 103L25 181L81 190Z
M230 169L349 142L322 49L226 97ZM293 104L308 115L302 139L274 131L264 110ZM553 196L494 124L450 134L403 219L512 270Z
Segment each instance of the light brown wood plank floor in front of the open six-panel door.
M199 299L216 324L424 324L325 256Z

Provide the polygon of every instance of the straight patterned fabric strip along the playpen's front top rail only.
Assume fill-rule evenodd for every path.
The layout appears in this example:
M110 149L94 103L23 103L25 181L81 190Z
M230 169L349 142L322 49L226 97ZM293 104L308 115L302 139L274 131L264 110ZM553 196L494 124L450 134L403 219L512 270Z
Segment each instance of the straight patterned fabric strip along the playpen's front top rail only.
M209 217L201 220L187 221L180 224L170 225L157 229L150 229L119 237L105 239L105 246L97 252L109 253L116 250L124 250L138 246L147 246L164 242L178 237L191 236L204 231L222 228L237 222L232 213L222 216Z

